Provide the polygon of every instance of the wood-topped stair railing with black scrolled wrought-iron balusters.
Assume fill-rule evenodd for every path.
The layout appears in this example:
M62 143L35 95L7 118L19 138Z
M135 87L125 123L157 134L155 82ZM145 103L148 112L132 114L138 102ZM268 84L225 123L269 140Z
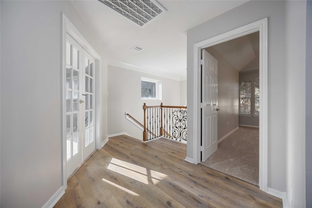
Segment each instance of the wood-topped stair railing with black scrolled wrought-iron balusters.
M187 140L186 106L147 106L143 104L143 141L166 137Z

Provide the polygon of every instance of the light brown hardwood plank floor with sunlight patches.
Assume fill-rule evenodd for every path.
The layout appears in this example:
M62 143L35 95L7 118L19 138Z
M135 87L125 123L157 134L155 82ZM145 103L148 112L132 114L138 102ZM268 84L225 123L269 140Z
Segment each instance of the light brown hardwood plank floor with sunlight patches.
M55 208L282 207L279 198L184 161L186 145L116 136L69 179Z

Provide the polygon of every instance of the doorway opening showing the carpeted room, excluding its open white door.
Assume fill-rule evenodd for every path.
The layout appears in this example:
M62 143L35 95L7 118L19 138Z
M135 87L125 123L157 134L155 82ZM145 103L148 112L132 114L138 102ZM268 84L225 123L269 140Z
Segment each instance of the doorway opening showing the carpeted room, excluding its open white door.
M201 164L258 186L259 32L204 50L218 66L217 150Z

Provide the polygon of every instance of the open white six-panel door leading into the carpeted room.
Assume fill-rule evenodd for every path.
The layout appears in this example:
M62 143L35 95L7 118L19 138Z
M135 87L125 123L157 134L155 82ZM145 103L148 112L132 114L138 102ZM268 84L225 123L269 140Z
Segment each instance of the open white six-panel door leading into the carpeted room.
M218 61L202 50L202 161L218 148Z

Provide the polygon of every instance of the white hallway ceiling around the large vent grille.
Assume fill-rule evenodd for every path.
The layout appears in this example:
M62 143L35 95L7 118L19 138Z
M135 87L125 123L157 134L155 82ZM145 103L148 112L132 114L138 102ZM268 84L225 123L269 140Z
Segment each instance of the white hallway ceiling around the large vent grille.
M186 31L247 0L158 0L167 12L140 27L98 0L73 6L98 37L108 63L150 74L186 79ZM139 46L143 51L129 49Z

